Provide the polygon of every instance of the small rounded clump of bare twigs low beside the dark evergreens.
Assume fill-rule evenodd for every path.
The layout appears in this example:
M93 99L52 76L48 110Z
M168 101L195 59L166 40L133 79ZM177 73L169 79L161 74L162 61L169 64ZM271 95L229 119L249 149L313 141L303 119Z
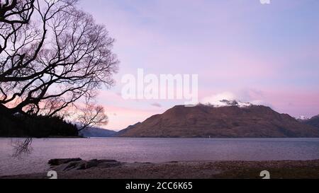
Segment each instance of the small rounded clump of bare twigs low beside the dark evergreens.
M108 117L105 110L100 105L86 103L85 107L79 107L79 110L76 119L79 124L79 131L86 129L87 127L108 123Z

